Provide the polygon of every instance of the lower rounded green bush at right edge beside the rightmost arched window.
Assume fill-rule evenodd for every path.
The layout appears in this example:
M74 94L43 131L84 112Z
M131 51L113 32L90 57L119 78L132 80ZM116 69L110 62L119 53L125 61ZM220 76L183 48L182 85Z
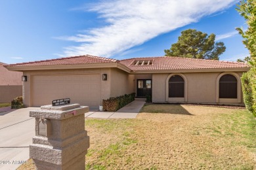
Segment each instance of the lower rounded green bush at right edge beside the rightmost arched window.
M256 69L251 68L242 76L242 88L246 109L256 116Z

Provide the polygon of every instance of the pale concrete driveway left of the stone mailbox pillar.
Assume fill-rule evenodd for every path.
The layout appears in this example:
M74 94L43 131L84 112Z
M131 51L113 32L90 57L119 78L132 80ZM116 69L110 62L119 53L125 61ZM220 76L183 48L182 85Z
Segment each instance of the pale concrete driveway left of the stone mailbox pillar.
M29 112L34 109L38 108L0 113L0 169L16 169L30 158L35 119L30 118Z

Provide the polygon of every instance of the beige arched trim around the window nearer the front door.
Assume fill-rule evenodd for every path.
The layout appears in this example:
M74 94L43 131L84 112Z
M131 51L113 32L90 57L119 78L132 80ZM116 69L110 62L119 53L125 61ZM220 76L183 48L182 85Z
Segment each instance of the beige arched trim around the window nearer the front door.
M184 97L169 97L169 79L171 76L181 76L184 80ZM171 73L165 81L165 101L167 102L187 102L188 101L188 80L182 73Z

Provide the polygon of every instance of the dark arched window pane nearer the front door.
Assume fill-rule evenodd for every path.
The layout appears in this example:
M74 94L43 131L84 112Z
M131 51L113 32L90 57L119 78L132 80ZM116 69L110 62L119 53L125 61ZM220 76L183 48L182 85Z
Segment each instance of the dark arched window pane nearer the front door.
M169 79L169 97L184 97L184 79L179 75Z

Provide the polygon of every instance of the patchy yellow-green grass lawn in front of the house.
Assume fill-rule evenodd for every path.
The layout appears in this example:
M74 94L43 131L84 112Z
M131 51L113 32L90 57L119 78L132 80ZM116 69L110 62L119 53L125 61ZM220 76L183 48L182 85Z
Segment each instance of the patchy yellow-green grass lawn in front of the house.
M256 169L256 119L244 109L146 105L136 119L87 118L85 129L86 169Z

